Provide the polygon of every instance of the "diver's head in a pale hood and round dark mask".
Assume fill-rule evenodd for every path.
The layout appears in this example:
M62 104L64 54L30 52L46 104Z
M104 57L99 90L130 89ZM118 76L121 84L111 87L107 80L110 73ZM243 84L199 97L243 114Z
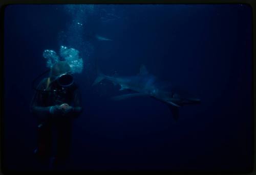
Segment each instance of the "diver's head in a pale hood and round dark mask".
M56 82L61 87L68 87L74 82L71 68L65 61L59 61L52 66L50 77L52 82Z

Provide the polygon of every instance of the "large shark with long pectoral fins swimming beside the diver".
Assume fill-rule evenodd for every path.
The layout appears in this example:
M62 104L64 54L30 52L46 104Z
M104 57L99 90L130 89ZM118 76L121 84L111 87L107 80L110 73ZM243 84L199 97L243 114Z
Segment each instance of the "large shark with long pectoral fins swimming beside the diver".
M114 96L111 99L120 101L127 98L147 96L156 99L159 102L166 104L173 114L174 119L179 117L179 108L185 105L200 104L201 100L196 97L184 96L178 93L177 90L166 90L159 86L159 81L153 75L148 73L144 65L140 66L140 72L135 76L117 77L103 74L99 69L98 76L92 86L95 86L102 80L108 80L114 85L119 85L119 90L130 90L133 93ZM160 83L161 84L161 83Z

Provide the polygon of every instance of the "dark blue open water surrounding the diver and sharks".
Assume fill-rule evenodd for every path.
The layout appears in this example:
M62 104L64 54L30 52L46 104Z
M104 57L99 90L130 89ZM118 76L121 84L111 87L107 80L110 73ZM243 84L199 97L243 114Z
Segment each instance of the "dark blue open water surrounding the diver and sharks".
M6 168L38 170L31 83L46 70L42 52L67 45L78 49L84 62L75 76L84 112L73 123L73 169L251 170L249 6L95 5L88 13L74 8L74 14L61 5L5 10ZM74 19L82 29L72 26ZM98 41L96 34L113 41ZM105 74L119 76L136 75L143 64L159 80L199 97L201 104L181 107L176 121L166 105L150 97L111 101L127 92L108 81L92 87L96 62Z

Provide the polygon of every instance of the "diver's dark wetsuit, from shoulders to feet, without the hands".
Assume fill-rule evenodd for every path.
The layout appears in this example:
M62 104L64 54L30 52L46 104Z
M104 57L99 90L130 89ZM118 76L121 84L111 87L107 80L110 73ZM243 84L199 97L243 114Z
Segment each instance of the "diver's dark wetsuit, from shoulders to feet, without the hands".
M70 156L72 120L78 117L82 108L77 85L73 84L63 90L53 83L47 88L48 81L46 78L39 83L31 102L31 112L38 124L38 146L35 154L42 162L48 162L50 157L55 156L55 162L60 163ZM51 107L63 103L73 107L70 113L50 113Z

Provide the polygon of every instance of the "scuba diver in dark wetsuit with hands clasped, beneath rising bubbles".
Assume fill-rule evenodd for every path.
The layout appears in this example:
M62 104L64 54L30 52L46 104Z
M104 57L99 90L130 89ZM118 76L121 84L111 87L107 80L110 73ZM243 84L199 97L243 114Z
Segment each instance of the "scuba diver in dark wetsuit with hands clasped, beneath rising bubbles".
M70 157L72 120L82 112L78 86L70 65L58 61L50 69L50 77L36 88L30 110L37 120L38 160L50 168L65 165Z

